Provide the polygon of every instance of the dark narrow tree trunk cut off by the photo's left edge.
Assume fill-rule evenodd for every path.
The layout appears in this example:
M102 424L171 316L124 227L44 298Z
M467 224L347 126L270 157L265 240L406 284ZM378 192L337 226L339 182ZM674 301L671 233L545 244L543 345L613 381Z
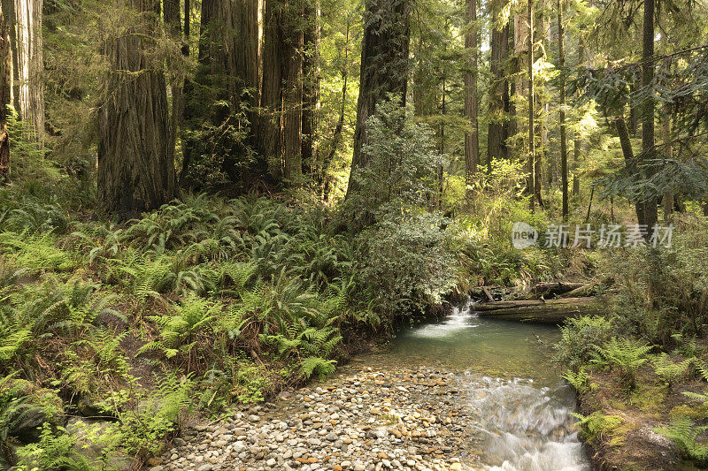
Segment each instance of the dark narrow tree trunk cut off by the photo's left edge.
M10 179L10 137L7 134L7 107L12 95L12 49L10 19L6 13L8 0L0 9L0 185Z

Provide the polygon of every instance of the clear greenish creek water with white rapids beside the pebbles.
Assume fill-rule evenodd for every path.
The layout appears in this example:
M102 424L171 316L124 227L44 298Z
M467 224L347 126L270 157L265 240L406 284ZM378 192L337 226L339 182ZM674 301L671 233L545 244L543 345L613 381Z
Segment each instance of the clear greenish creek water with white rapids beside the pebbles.
M573 391L552 362L558 329L481 318L472 309L402 330L379 361L465 372L459 384L482 469L589 470L570 415Z

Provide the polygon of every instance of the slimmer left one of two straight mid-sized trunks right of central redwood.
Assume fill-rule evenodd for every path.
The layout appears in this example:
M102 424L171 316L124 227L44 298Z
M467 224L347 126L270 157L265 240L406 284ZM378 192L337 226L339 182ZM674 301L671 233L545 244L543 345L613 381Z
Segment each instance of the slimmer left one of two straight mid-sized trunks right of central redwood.
M467 0L467 20L469 25L465 34L465 48L469 63L465 73L465 115L470 128L465 133L465 176L469 191L473 175L480 163L480 125L477 121L477 0Z

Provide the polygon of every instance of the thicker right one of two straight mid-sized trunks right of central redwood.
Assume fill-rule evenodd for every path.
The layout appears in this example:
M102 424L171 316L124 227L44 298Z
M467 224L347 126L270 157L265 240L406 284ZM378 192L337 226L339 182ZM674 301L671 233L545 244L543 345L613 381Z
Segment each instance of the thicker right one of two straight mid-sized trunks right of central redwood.
M496 21L503 7L503 2L494 0L490 3L492 27L490 31L489 71L489 125L487 136L487 163L491 171L492 159L509 158L507 139L509 138L509 82L504 73L504 64L509 57L509 23L501 29L496 28Z

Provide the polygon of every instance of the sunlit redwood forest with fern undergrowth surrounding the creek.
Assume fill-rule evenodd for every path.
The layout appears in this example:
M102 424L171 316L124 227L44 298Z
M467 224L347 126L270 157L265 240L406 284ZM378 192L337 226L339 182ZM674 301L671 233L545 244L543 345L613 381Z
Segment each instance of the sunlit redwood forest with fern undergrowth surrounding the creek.
M708 460L704 2L1 11L7 463L142 464L189 412L218 418L326 376L362 339L478 287L523 297L550 280L612 295L607 315L564 328L579 394L609 370L634 407L653 382L673 407L665 435ZM570 239L621 225L642 243L542 237L519 251L516 222L567 224ZM673 245L658 249L669 224ZM598 404L581 426L609 443L621 430ZM110 418L98 456L76 451L86 438L68 415Z

